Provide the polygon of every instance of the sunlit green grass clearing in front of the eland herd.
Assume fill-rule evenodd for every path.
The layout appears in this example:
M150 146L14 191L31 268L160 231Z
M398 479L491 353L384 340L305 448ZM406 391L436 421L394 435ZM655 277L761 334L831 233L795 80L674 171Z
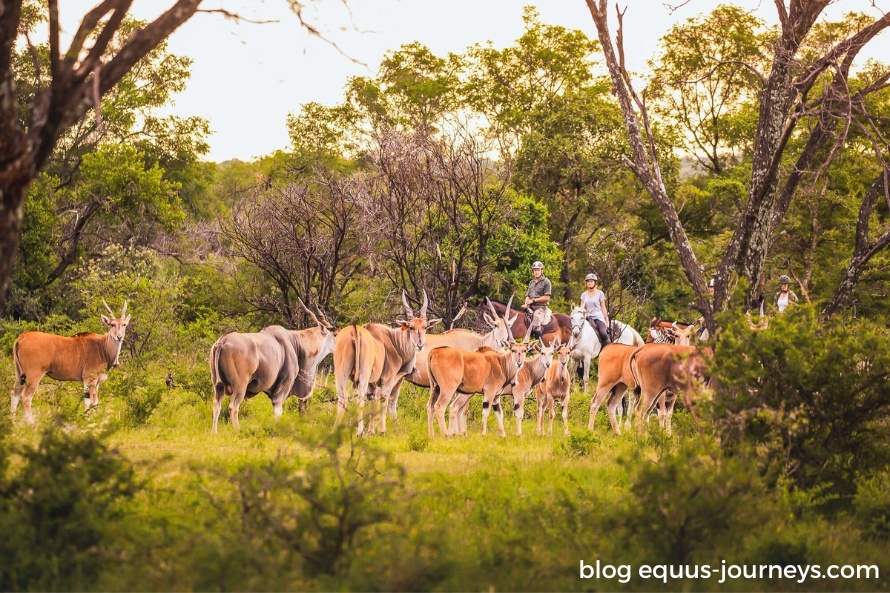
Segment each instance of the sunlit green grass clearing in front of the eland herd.
M7 366L0 361L0 371ZM579 561L597 558L630 564L635 573L644 563L718 566L722 559L769 563L782 557L886 568L880 539L864 536L849 517L829 522L767 489L750 468L722 460L713 438L700 434L683 410L675 414L673 438L660 434L654 421L644 434L613 435L602 409L590 433L590 398L576 389L570 435L563 435L560 417L553 436L536 435L530 399L520 437L508 398L507 436L500 438L494 414L489 434L480 434L477 397L466 437L430 439L426 390L404 386L388 433L357 439L332 436L335 404L327 377L304 416L293 399L277 422L265 395L245 402L240 431L229 424L225 400L214 435L209 382L197 378L155 393L160 370L120 375L103 385L99 408L88 414L78 385L45 380L35 400L38 426L18 422L7 436L16 446L33 446L60 414L72 430L106 435L136 468L141 488L126 518L107 528L114 561L97 589L887 587L883 570L879 582L579 579ZM8 400L0 403L0 414L8 415L8 406ZM332 439L340 440L332 445ZM734 481L747 489L724 489ZM703 489L713 494L702 497ZM316 516L313 505L334 512ZM882 507L868 506L872 513L875 508ZM332 517L340 511L345 524L359 527L342 548L330 548ZM687 536L674 529L675 518L698 525L682 559L673 554Z

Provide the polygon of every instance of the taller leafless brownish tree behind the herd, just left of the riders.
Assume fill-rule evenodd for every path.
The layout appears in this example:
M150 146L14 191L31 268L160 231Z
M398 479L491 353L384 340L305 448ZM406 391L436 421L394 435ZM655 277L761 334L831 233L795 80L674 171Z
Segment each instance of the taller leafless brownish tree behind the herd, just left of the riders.
M412 295L426 289L446 325L494 271L491 242L513 215L509 171L490 149L466 128L441 138L389 130L369 155L381 271Z

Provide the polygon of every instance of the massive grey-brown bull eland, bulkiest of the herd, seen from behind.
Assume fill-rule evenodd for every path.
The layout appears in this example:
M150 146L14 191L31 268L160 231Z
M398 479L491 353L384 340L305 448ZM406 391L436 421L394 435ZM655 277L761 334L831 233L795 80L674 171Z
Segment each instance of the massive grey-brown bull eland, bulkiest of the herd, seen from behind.
M335 331L329 321L321 321L302 300L300 305L315 327L289 330L270 325L256 333L232 332L222 336L210 349L214 390L212 432L218 430L226 395L231 396L229 418L236 429L242 402L258 393L266 393L272 400L275 418L281 416L284 401L291 395L299 398L300 412L305 410L318 364L334 350Z

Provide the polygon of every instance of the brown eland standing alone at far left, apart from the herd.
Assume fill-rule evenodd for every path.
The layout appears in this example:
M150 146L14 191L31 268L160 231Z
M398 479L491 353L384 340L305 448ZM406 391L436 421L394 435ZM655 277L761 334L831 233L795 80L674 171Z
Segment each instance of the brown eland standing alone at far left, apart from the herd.
M12 347L15 362L15 387L12 390L12 416L21 398L25 406L25 421L34 423L31 400L44 376L56 381L83 382L84 409L99 405L99 385L108 379L106 371L119 364L121 346L130 316L127 303L120 317L104 300L110 317L102 315L108 327L103 334L80 333L73 337L57 336L39 331L20 335Z

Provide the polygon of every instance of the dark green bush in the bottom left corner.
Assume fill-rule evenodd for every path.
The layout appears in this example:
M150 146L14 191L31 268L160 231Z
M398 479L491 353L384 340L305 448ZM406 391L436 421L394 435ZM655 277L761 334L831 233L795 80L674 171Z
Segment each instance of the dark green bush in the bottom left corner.
M117 564L114 526L138 489L130 464L95 435L56 425L33 447L0 440L0 589L95 588Z

